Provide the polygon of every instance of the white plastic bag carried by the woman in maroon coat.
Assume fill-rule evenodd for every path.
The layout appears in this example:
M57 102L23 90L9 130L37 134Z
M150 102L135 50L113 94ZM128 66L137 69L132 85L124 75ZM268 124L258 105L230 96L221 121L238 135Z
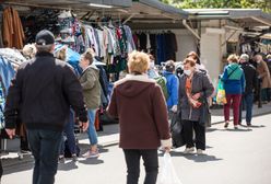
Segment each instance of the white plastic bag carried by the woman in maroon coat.
M157 184L181 184L168 152L164 153L162 171L160 172Z

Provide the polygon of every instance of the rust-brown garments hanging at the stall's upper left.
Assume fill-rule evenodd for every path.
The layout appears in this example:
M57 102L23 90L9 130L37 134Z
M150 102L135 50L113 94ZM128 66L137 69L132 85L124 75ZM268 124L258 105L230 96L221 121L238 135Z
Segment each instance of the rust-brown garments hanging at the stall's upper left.
M22 49L24 46L24 31L16 10L7 8L3 11L3 45L9 48Z

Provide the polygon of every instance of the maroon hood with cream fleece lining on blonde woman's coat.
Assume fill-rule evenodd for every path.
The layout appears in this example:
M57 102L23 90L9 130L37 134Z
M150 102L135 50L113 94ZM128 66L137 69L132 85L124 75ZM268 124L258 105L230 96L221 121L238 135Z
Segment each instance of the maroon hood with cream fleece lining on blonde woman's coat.
M115 88L119 94L134 97L154 84L155 80L149 79L146 74L127 74L126 78L115 82Z

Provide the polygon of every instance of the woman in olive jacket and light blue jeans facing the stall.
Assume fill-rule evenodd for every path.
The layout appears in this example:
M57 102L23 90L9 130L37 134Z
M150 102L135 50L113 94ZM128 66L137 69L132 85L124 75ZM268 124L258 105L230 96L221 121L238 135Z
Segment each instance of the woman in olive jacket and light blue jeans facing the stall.
M97 158L98 153L98 139L95 129L95 115L96 111L101 105L101 92L102 88L99 84L99 70L93 64L94 51L87 49L82 56L80 67L83 69L83 73L80 77L80 83L83 88L84 101L87 107L90 126L87 130L91 148L83 154L85 158Z

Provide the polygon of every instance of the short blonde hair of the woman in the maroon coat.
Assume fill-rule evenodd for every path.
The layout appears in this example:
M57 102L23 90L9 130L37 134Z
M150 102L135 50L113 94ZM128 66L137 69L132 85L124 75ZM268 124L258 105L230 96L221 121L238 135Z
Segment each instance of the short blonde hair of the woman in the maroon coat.
M149 69L150 56L143 51L132 51L129 54L128 68L129 72L144 73Z

